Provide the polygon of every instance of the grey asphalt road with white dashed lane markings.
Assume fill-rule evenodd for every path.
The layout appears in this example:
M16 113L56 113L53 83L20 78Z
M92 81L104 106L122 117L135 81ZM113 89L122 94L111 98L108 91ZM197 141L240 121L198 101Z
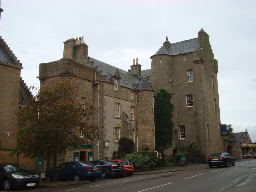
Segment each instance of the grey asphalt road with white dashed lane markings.
M17 190L15 190L17 191ZM231 192L256 191L256 159L236 162L236 166L203 167L201 169L179 172L156 173L150 175L134 175L131 177L106 180L96 179L94 182L61 188L35 188L18 191L72 191L72 192L142 192L142 191L207 191Z

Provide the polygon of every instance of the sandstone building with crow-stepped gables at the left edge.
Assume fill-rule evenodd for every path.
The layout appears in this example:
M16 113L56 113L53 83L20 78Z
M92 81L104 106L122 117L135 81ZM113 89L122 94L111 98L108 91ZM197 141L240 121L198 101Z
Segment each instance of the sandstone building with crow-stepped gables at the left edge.
M0 8L0 16L3 9ZM20 77L22 63L0 36L0 163L19 163L28 169L37 169L37 160L10 157L17 140L19 109L26 106L31 95Z

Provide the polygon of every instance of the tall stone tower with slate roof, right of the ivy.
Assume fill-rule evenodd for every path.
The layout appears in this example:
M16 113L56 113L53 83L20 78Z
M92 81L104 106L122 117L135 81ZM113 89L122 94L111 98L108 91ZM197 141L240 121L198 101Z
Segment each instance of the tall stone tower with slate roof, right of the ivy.
M166 153L173 154L190 143L195 143L206 159L221 151L218 62L209 36L201 29L195 39L171 44L166 38L151 59L152 88L169 90L174 104L174 140Z

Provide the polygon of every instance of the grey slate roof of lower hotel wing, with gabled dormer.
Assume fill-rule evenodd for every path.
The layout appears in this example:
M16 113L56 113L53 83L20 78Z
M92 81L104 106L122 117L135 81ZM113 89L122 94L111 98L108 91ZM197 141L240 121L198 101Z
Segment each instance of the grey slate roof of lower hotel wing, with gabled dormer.
M142 78L140 81L140 78L136 77L135 74L130 73L128 71L124 71L122 69L116 68L112 65L109 65L107 63L104 63L102 61L99 61L97 59L94 59L90 57L90 61L93 61L93 66L98 66L98 70L102 71L102 75L106 75L106 81L113 82L111 81L112 76L114 75L114 72L116 69L118 69L118 72L120 74L121 80L120 80L120 85L124 87L128 87L131 89L151 89L151 85L145 78L145 76ZM150 69L151 71L151 69Z

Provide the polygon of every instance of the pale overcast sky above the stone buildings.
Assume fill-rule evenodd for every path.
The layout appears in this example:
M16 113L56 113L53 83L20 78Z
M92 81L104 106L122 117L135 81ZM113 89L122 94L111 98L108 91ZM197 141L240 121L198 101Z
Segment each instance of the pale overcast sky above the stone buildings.
M84 36L88 56L142 70L163 45L198 37L203 27L218 60L221 124L256 140L256 1L1 0L0 35L23 63L26 85L39 87L40 63L63 57L63 42Z

